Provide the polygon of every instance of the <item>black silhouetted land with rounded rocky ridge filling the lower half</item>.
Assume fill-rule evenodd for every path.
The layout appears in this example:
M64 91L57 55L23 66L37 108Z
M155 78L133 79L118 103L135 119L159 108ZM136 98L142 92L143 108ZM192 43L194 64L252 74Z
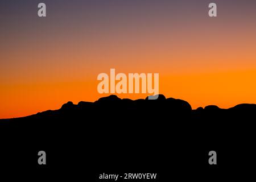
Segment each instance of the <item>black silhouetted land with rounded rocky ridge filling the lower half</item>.
M157 180L255 178L256 105L192 110L186 101L116 96L0 120L2 173L100 180L101 173L158 173ZM38 164L46 151L47 164ZM217 165L209 165L209 151ZM50 177L51 176L51 177ZM58 180L58 181L59 181ZM143 181L122 180L117 181Z

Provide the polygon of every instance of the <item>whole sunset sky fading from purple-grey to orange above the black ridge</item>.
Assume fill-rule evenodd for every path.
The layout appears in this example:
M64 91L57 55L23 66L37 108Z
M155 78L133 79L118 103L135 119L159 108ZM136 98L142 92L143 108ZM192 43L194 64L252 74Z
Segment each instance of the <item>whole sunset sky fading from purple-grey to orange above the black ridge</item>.
M193 109L256 103L254 0L1 0L0 23L0 118L107 96L97 75L110 68L159 73L159 92Z

